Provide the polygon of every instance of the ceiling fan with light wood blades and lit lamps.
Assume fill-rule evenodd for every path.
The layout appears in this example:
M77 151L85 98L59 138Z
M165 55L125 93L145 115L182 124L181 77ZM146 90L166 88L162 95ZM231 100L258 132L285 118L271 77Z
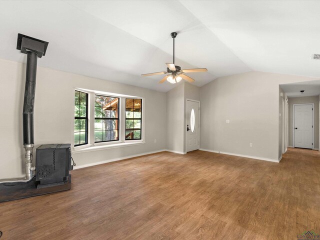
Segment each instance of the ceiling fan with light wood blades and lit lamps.
M141 74L141 76L162 75L162 74L169 73L168 75L163 77L158 83L163 83L165 80L167 80L170 83L177 83L182 78L184 80L187 80L188 82L193 82L194 81L193 78L183 73L207 71L206 68L181 69L180 66L174 65L174 38L176 37L176 35L177 35L176 32L171 32L171 37L173 38L173 63L165 63L167 65L166 71L146 73L146 74Z

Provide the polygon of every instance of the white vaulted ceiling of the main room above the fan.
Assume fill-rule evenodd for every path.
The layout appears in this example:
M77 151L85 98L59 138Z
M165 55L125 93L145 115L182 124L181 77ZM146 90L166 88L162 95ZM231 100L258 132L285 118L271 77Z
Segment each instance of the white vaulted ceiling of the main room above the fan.
M49 41L38 64L159 91L172 61L202 86L219 76L258 70L320 76L320 1L0 1L0 58L25 62L17 33Z

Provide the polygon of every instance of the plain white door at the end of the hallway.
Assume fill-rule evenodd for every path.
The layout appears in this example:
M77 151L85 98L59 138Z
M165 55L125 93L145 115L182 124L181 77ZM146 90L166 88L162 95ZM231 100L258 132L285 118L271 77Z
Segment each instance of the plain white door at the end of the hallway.
M312 111L312 104L294 105L294 147L313 147Z

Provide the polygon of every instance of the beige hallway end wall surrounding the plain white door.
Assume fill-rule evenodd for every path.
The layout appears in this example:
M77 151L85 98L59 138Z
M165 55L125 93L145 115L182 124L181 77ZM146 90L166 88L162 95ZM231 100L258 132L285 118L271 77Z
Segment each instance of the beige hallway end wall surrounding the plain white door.
M289 97L289 146L292 146L293 104L314 103L314 148L319 148L319 96Z

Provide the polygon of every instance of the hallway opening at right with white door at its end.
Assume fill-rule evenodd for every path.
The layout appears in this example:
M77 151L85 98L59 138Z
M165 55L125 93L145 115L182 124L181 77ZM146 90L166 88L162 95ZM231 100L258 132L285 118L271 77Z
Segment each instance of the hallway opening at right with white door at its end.
M286 147L319 150L319 105L320 79L279 85L279 159Z

